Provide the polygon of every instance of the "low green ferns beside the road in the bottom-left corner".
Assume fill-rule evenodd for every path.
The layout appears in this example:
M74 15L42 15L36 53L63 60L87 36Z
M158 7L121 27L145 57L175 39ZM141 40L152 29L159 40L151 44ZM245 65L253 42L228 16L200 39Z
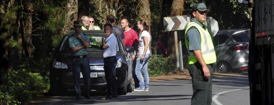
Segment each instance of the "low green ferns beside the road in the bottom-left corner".
M0 102L6 105L27 103L47 90L45 77L22 69L9 72L7 85L0 86Z

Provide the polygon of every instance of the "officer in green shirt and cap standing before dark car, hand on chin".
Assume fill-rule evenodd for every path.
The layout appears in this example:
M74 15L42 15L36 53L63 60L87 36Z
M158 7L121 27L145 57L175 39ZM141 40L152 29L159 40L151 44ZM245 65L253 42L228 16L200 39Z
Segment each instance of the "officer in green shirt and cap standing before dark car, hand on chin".
M87 48L90 45L90 39L81 32L82 22L73 22L75 33L69 37L69 47L72 49L72 73L74 79L74 89L76 100L81 100L80 72L83 74L84 90L86 99L90 99L90 61L87 58Z

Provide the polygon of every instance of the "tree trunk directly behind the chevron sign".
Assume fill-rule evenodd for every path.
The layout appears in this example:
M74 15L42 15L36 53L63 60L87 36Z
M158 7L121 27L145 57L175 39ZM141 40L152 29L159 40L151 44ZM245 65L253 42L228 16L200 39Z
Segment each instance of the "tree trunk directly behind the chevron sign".
M171 6L171 13L170 16L181 16L183 15L183 8L184 8L184 0L173 0L172 6ZM177 32L179 33L179 32ZM169 55L173 55L170 59L171 64L177 65L176 62L176 53L175 53L175 40L174 40L174 31L168 32L168 48L167 53ZM181 47L181 46L179 46Z

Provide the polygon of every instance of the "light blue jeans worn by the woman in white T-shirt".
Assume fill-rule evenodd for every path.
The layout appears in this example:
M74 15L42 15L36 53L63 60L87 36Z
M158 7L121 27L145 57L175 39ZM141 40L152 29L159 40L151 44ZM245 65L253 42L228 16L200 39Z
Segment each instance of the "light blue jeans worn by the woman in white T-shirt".
M136 60L135 73L139 79L140 89L149 89L149 74L147 70L147 62L149 60L150 54L146 54L144 60L141 60L142 55L140 54ZM144 75L144 79L143 76Z

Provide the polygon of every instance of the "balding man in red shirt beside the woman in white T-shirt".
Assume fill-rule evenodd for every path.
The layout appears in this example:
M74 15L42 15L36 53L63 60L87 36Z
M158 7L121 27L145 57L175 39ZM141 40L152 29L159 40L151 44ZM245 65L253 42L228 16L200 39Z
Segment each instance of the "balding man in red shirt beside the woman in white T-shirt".
M128 19L122 19L121 20L121 28L124 30L124 35L125 35L125 39L124 39L124 43L125 46L131 46L134 47L134 51L133 53L131 53L132 56L132 60L133 60L133 64L132 64L132 77L134 79L134 84L135 84L135 89L139 88L139 80L135 74L135 66L136 66L136 54L138 52L138 34L136 33L135 30L133 30L132 28L129 28L129 22Z

